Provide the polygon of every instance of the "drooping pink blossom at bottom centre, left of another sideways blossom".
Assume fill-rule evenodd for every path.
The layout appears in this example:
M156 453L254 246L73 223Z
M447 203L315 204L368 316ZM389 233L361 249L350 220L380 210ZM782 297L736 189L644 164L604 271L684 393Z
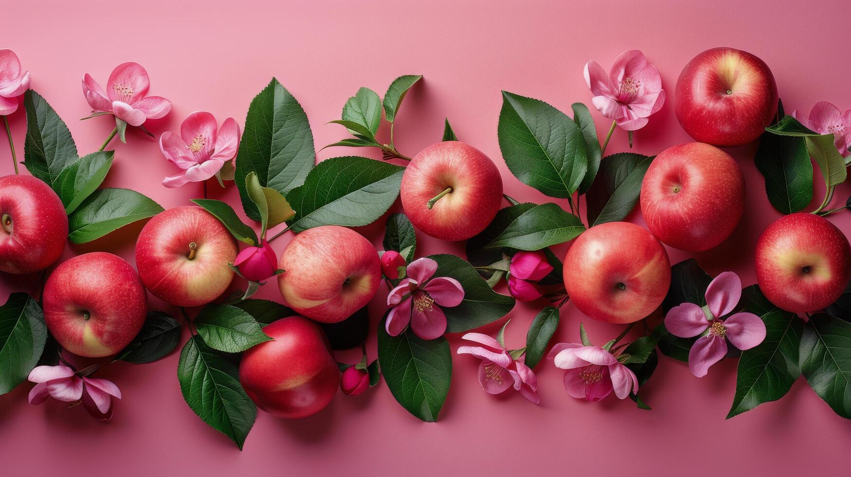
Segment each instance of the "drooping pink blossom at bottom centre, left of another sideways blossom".
M500 394L506 389L514 388L534 404L538 404L538 379L534 372L524 363L525 358L511 359L505 346L494 338L482 333L467 333L463 339L477 342L483 346L462 346L459 354L472 354L479 363L479 384L488 394Z

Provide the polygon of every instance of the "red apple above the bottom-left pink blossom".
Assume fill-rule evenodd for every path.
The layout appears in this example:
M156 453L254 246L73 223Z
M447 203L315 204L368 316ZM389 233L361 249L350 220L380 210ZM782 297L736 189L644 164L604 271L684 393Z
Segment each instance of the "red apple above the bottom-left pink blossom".
M118 353L139 334L147 294L127 261L92 252L63 261L50 273L43 308L44 323L62 348L101 358Z

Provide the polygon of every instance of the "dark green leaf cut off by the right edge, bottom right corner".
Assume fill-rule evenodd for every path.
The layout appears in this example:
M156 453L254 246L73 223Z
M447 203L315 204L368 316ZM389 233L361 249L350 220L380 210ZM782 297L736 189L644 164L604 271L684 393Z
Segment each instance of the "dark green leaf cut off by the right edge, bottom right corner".
M803 327L801 372L834 412L851 418L851 323L816 314Z

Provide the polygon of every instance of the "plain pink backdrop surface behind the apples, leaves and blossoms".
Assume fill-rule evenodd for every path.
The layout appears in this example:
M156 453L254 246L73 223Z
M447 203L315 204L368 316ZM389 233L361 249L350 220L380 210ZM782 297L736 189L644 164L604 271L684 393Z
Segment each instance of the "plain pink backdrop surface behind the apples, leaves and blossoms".
M289 4L287 4L289 3ZM340 118L346 99L361 86L384 95L393 78L422 73L425 81L406 98L398 117L397 146L414 155L440 140L448 117L462 141L487 153L503 172L505 193L524 200L551 200L515 179L500 155L496 128L500 89L550 102L565 112L590 104L582 79L587 60L608 69L625 49L641 49L661 72L669 101L635 135L636 152L657 153L690 141L672 107L674 84L685 63L704 49L732 46L760 56L774 72L787 111L808 112L816 101L851 107L848 88L848 18L851 4L764 2L9 2L0 16L0 48L13 49L32 73L37 89L71 129L80 152L92 152L113 124L107 118L80 122L89 112L80 79L89 72L101 84L117 64L134 60L151 76L151 94L174 101L171 114L148 127L155 134L178 130L189 112L213 112L244 123L252 97L276 76L304 106L317 150L346 136L328 121ZM78 5L79 4L79 5ZM310 6L306 6L309 4ZM10 118L23 156L26 119ZM608 129L597 112L598 133ZM382 129L382 134L387 131ZM109 187L130 187L164 207L200 197L200 184L177 190L160 185L176 169L156 141L129 131L128 144L113 141L116 161ZM628 150L618 130L608 152ZM780 216L766 198L752 157L755 145L730 149L745 172L747 207L740 227L716 250L698 254L713 274L740 273L755 281L752 250L759 233ZM322 160L375 151L329 148ZM0 138L0 173L12 171ZM237 205L236 189L212 198ZM835 204L848 197L848 184ZM816 190L821 198L821 190ZM561 202L560 202L561 204ZM566 204L563 204L566 206ZM813 205L814 206L814 205ZM394 210L400 211L397 206ZM851 213L831 221L851 232ZM631 221L643 223L639 211ZM133 262L141 224L107 239L72 245L66 258L93 250ZM360 232L380 246L383 221ZM274 232L274 231L273 231ZM274 244L280 253L289 235ZM419 255L450 251L419 234ZM564 247L559 248L563 253ZM669 250L672 262L687 254ZM35 277L0 277L0 298L34 289ZM386 290L372 305L375 322ZM261 297L279 299L274 285ZM151 306L174 312L162 302ZM523 346L528 325L542 307L518 304L506 333L510 348ZM605 342L620 327L563 309L557 341L578 341L584 319L591 338ZM486 327L495 333L500 324ZM184 340L186 336L184 336ZM453 348L460 336L450 336ZM374 333L368 341L375 357ZM340 355L340 359L357 359ZM357 398L338 394L318 415L284 421L260 411L245 451L208 428L183 401L176 379L178 353L151 365L110 365L101 376L121 388L124 399L112 422L94 422L83 409L58 402L27 405L23 384L0 396L3 473L47 474L848 474L851 424L837 417L802 378L779 402L725 421L733 399L735 360L698 379L687 366L661 359L643 390L653 411L638 410L614 396L591 405L565 393L562 371L538 368L540 405L516 393L485 394L476 379L477 359L454 356L452 386L440 422L422 423L397 405L384 382Z

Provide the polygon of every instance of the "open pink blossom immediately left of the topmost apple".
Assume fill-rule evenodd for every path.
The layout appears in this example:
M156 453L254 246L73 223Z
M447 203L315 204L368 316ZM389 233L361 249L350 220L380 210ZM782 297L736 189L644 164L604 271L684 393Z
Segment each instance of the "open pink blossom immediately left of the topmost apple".
M608 75L597 61L588 61L585 84L594 95L591 102L597 111L627 131L642 129L647 118L665 104L659 71L637 49L621 53Z

